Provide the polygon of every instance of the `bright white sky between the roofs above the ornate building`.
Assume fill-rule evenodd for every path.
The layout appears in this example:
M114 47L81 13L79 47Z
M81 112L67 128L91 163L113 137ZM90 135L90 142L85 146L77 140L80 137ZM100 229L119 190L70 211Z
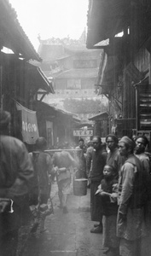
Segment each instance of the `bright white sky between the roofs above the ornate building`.
M88 0L9 0L35 49L41 39L78 39L87 22Z

